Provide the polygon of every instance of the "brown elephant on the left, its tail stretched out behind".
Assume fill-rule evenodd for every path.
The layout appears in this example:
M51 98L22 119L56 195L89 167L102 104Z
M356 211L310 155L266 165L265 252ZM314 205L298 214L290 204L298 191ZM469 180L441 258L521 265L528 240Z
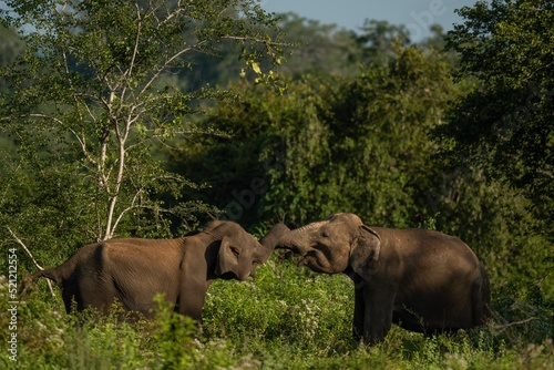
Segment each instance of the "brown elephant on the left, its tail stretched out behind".
M280 234L276 229L266 237L274 240ZM35 273L31 281L54 280L68 312L73 301L79 311L93 307L106 312L117 300L125 310L151 317L154 296L164 294L175 311L201 320L212 281L245 280L269 258L271 243L266 247L239 225L214 220L176 239L121 238L88 245L57 268Z

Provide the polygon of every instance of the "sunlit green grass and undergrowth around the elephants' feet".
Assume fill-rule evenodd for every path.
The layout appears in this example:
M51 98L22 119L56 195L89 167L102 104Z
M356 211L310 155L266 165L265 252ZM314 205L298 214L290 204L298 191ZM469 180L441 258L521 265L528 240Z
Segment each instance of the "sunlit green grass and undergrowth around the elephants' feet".
M202 330L161 305L157 320L119 322L117 312L65 315L45 284L18 307L18 362L2 369L553 369L547 305L494 297L480 330L424 337L393 326L383 343L351 337L353 288L346 276L299 269L276 257L254 280L216 281ZM1 284L2 312L8 307ZM9 317L0 316L2 342Z

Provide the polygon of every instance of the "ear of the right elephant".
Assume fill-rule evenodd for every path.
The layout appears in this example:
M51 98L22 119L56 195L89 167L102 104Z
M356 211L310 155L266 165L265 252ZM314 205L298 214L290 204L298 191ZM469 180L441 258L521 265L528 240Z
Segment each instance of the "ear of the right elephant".
M376 274L379 266L381 238L372 228L361 225L359 234L350 249L350 266L356 274L367 279Z

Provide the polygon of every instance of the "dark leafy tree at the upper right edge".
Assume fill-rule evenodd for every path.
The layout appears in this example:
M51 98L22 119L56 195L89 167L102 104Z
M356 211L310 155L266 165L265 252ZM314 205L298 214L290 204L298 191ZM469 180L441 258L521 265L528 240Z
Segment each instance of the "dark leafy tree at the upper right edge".
M453 166L479 165L533 202L551 236L554 215L554 3L481 1L448 34L461 79L479 86L455 102L439 140Z

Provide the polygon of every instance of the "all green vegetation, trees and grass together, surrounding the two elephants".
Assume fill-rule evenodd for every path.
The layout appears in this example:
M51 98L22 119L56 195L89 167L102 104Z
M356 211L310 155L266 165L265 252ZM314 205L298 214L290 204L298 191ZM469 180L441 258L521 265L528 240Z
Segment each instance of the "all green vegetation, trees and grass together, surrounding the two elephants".
M18 306L18 362L1 346L0 367L552 368L553 3L478 2L420 44L401 25L353 33L255 1L7 3L0 240L19 284L35 267L8 227L50 267L214 216L260 237L352 212L461 237L490 271L494 317L363 347L352 282L275 253L255 279L213 284L202 330L162 305L148 322L65 315L41 281Z

